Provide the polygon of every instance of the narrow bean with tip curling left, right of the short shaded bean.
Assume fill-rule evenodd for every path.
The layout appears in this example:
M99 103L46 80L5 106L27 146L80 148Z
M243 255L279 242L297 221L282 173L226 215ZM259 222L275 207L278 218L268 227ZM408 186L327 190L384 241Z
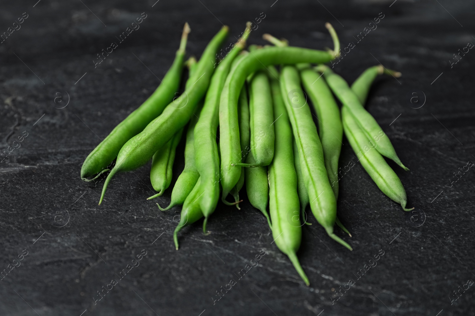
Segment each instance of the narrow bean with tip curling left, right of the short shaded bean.
M199 110L201 106L198 106ZM160 205L157 203L158 208L162 211L166 211L175 205L180 205L185 202L186 197L190 194L191 190L195 186L196 182L198 182L199 172L196 169L195 164L195 148L194 148L194 129L196 126L196 122L198 122L198 116L195 115L191 118L190 124L188 126L186 132L186 144L185 144L185 167L183 171L180 173L177 181L175 182L175 186L171 191L171 201L170 204L166 208L161 208ZM148 199L152 199L150 197Z

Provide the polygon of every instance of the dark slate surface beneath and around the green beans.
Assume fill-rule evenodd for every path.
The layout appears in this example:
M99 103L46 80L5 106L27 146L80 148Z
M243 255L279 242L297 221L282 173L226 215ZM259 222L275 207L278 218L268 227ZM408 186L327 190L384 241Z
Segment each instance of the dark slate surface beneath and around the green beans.
M458 168L475 161L475 52L449 63L475 43L473 2L36 1L2 1L0 9L1 32L28 14L0 44L1 149L28 133L0 163L0 269L28 252L0 281L0 315L474 315L473 287L452 305L449 298L475 280L475 171L451 183ZM96 54L142 12L140 29L94 68ZM240 211L218 205L210 235L202 235L201 222L184 229L176 251L171 237L180 208L162 213L145 200L152 195L150 164L116 176L101 206L102 182L79 178L99 138L157 87L185 21L192 29L188 53L199 56L222 23L235 41L261 12L266 17L250 43L265 44L268 32L311 48L331 46L324 22L345 47L382 12L378 28L335 70L350 82L378 62L403 73L378 79L367 107L411 170L391 164L416 212L403 212L357 163L342 178L338 201L353 237L337 229L354 250L329 239L310 216L314 225L304 227L298 253L310 287L272 244L245 194ZM180 145L173 181L182 152ZM345 141L342 166L356 162L352 154ZM168 203L170 191L158 202ZM97 291L142 249L140 265L95 305ZM213 305L216 291L261 249L259 265ZM380 250L378 265L357 280ZM332 289L350 279L356 284L333 304Z

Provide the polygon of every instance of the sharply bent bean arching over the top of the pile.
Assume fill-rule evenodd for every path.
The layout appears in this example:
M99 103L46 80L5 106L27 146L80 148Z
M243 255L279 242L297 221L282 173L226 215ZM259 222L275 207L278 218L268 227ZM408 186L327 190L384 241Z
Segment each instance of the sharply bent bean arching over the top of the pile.
M239 127L237 119L237 99L247 76L271 64L285 63L326 63L335 58L340 43L333 27L325 25L333 38L334 51L318 51L299 47L264 47L249 53L239 66L229 72L219 102L219 139L221 143L221 186L222 199L239 180L240 168L233 168L241 163L239 153Z

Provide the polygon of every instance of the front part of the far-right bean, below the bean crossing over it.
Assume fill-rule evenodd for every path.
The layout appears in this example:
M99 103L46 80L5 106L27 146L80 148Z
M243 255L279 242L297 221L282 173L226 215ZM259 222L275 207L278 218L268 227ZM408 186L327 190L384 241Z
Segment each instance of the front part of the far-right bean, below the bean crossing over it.
M346 138L348 138L354 152L358 155L361 165L378 188L390 199L399 203L405 211L413 209L406 208L406 190L404 190L399 177L384 160L383 156L374 150L374 147L367 145L368 138L366 134L346 106L342 108L342 118Z

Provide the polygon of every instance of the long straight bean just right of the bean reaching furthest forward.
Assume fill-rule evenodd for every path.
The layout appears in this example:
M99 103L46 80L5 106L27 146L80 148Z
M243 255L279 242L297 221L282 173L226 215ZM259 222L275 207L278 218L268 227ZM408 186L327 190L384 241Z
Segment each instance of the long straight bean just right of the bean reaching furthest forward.
M310 107L304 100L304 92L300 88L299 73L294 66L285 66L282 69L280 81L312 213L331 238L352 250L349 244L333 233L336 220L336 198L325 169L323 149L317 128L312 119Z

